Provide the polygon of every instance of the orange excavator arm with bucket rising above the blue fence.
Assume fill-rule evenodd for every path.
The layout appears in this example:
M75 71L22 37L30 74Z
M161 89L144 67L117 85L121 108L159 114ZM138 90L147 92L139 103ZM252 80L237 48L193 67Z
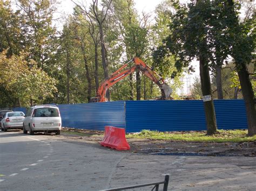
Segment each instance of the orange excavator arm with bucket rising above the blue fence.
M135 65L131 68L125 69L130 62L134 62ZM172 93L172 88L170 88L164 81L164 79L154 72L149 66L147 66L139 58L133 58L129 62L125 63L121 68L116 70L110 77L105 79L102 84L100 84L96 97L92 97L90 102L106 102L108 101L105 97L107 89L112 87L115 83L124 79L127 75L133 73L136 69L140 70L143 74L149 77L154 83L158 85L161 90L161 100L167 100Z

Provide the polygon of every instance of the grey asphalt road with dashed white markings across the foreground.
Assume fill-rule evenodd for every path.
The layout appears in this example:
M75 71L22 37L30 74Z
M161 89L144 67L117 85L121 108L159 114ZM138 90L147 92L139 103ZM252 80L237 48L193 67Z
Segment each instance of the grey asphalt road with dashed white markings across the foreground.
M165 174L169 190L256 188L254 157L143 155L63 136L0 132L0 190L100 190L163 181Z

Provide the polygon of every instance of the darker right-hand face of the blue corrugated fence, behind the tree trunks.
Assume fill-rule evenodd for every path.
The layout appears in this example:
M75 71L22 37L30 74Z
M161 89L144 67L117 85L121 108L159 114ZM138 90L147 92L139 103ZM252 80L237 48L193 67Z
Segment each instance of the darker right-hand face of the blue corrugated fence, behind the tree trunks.
M244 100L214 100L218 129L246 129ZM206 130L201 100L126 101L126 132Z

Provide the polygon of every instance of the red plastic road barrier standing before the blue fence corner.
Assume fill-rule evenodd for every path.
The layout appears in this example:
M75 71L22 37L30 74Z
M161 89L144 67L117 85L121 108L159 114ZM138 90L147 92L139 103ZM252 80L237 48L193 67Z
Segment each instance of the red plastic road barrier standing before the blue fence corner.
M115 148L116 150L130 150L125 138L125 129L114 126L105 126L105 135L100 145Z

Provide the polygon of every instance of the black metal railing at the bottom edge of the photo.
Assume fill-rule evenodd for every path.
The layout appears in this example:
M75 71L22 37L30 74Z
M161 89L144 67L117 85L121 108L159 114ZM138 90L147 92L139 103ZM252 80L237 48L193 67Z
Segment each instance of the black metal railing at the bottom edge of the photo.
M104 189L100 191L106 191L106 190L111 190L111 191L116 191L116 190L125 190L125 189L132 189L132 188L139 188L139 187L146 187L146 186L153 186L154 187L151 190L159 190L159 185L164 185L163 191L167 191L168 188L168 183L169 183L169 175L165 175L165 179L162 182L154 182L154 183L145 183L143 185L135 185L135 186L127 186L127 187L119 187L119 188L110 188L110 189Z

